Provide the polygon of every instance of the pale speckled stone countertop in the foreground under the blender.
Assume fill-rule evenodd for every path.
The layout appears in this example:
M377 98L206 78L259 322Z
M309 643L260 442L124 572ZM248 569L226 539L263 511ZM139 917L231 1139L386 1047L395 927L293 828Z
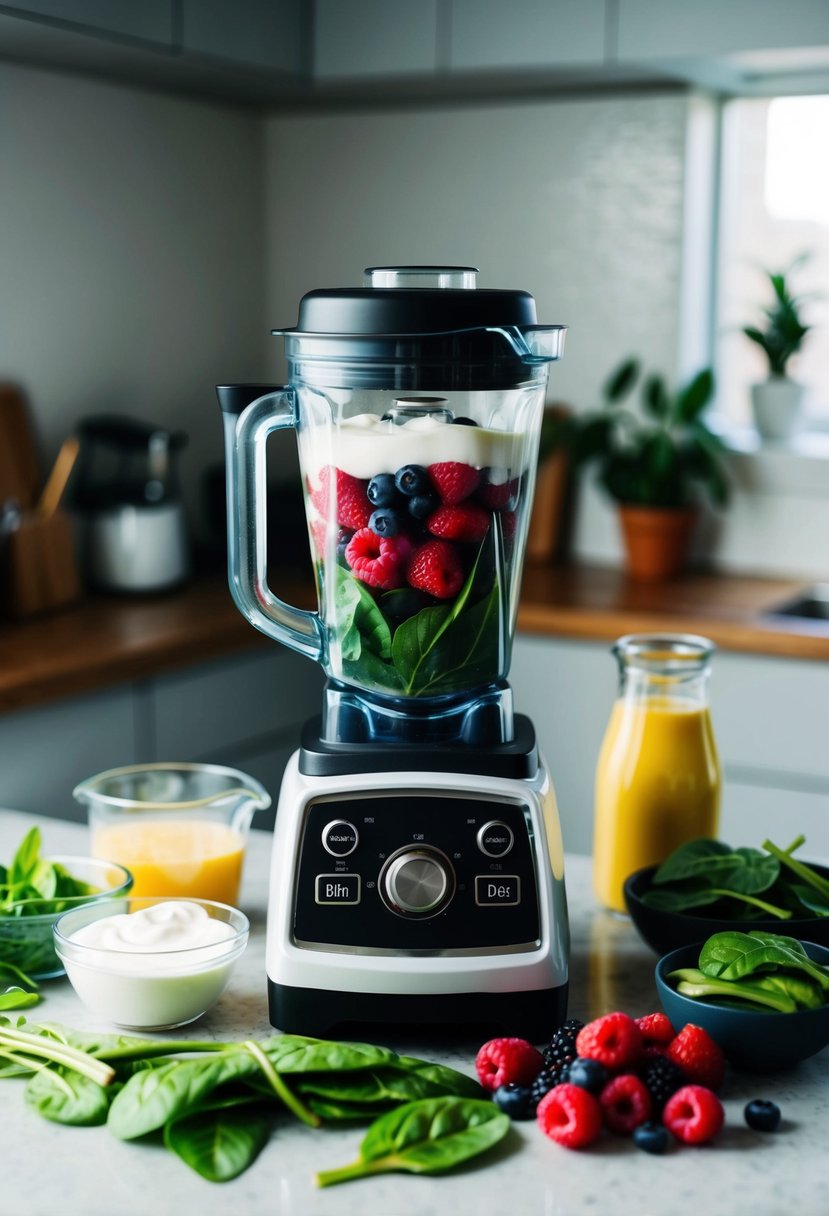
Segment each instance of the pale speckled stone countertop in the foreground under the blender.
M30 816L0 811L0 860L9 860ZM47 852L85 852L86 831L39 821ZM252 834L242 907L250 944L219 1003L185 1035L216 1040L272 1034L265 996L265 908L270 834ZM590 893L590 862L568 860L573 931L570 1014L587 1019L621 1008L635 1015L656 1008L654 956L626 921L599 911ZM43 985L33 1021L95 1023L66 979ZM181 1031L175 1032L181 1037ZM159 1036L163 1037L163 1036ZM378 1042L383 1036L378 1032ZM393 1046L442 1060L474 1075L476 1042ZM27 1109L23 1082L0 1082L0 1209L27 1216L825 1216L829 1172L829 1049L790 1073L733 1073L723 1088L726 1128L705 1148L677 1148L654 1158L630 1139L604 1136L593 1148L559 1148L535 1124L514 1124L480 1164L442 1177L387 1175L329 1190L312 1183L316 1169L356 1156L362 1132L311 1131L286 1118L254 1165L233 1182L204 1182L157 1144L123 1143L106 1127L49 1124ZM750 1131L743 1105L776 1100L783 1124L774 1135Z

